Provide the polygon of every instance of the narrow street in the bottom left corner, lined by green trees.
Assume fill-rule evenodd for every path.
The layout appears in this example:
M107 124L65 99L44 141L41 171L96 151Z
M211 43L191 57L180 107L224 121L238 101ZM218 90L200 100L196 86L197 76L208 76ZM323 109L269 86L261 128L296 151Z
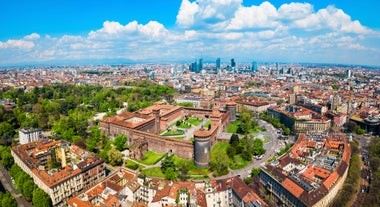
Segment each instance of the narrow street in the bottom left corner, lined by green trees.
M3 184L4 188L9 191L12 196L16 199L17 201L17 206L21 207L32 207L33 205L31 203L28 203L25 201L24 197L19 193L12 185L12 180L11 177L9 176L9 173L3 165L0 164L0 180L1 183Z

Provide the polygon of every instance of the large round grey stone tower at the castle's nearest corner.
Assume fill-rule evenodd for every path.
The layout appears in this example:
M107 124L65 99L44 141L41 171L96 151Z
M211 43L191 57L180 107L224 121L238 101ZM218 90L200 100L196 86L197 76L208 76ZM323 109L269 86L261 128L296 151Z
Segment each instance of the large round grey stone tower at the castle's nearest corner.
M199 168L206 168L210 163L210 132L201 128L194 132L194 162Z

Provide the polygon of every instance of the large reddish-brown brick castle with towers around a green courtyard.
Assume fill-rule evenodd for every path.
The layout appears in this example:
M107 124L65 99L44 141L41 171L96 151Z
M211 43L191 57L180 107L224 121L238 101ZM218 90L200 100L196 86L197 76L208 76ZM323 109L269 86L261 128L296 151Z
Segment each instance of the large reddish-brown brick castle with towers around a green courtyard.
M204 150L204 145L201 142L207 142L209 144L207 147L210 150L212 149L217 142L218 135L223 132L231 119L236 119L233 105L234 103L229 103L228 110L230 111L220 111L217 104L210 110L155 103L153 106L137 112L125 112L103 119L100 121L99 126L100 130L111 138L119 134L126 135L129 146L135 146L134 143L146 143L147 149L150 151L157 153L171 152L185 159L195 158L196 163L202 163L198 165L199 167L206 167L210 159L208 155L210 152ZM231 111L233 112L232 116ZM211 127L208 130L200 129L194 132L194 137L199 137L202 141L196 138L193 143L190 140L180 140L160 135L160 132L166 131L171 124L185 117L210 119ZM202 146L203 151L197 149L197 146ZM137 149L139 149L138 146ZM146 149L146 146L144 149ZM137 154L139 153L138 151L136 152ZM198 158L200 160L197 160Z

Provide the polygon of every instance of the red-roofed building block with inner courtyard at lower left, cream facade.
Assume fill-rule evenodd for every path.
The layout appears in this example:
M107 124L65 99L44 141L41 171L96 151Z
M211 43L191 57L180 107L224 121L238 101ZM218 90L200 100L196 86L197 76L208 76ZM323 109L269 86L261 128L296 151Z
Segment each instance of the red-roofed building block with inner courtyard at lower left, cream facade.
M38 140L12 147L11 154L53 206L66 206L69 198L105 178L104 160L68 142Z

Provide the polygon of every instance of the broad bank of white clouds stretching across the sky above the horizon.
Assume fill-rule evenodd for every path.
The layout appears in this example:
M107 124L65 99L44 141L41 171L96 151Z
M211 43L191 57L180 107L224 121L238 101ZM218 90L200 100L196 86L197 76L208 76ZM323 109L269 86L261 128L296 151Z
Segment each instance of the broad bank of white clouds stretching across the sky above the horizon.
M371 44L380 42L379 34L334 6L314 11L309 3L276 8L270 2L245 6L242 0L183 0L176 25L170 29L157 21L125 25L105 21L86 35L32 33L0 41L0 64L113 58L186 60L203 53L205 59L380 65L376 58L380 45Z

